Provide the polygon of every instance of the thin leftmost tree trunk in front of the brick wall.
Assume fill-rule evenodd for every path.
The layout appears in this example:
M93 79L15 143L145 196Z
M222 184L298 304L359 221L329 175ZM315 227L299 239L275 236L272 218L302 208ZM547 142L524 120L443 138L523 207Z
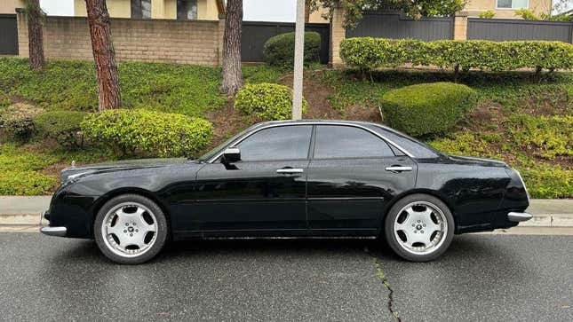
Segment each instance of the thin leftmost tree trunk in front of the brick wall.
M28 0L26 13L28 17L28 51L30 67L34 70L44 69L44 32L42 19L44 12L40 8L40 0Z

